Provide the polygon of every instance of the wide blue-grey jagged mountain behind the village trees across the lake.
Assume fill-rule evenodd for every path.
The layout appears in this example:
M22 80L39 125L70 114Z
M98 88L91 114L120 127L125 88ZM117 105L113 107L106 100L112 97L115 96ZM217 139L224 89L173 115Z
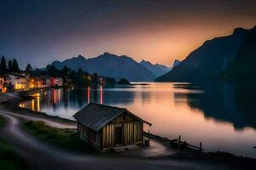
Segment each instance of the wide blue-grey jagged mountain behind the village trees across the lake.
M62 62L54 61L52 65L55 65L58 69L67 65L67 67L76 71L81 68L89 73L96 72L104 77L114 77L116 79L126 78L131 82L150 82L155 77L151 71L138 64L134 59L125 55L118 56L108 53L90 59L85 59L79 55Z

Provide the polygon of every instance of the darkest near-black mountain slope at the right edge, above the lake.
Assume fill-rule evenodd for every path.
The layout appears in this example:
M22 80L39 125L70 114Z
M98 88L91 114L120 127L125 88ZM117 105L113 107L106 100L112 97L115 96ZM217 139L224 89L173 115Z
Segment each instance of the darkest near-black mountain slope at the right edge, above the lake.
M220 75L223 80L256 80L256 26L247 32L235 59Z

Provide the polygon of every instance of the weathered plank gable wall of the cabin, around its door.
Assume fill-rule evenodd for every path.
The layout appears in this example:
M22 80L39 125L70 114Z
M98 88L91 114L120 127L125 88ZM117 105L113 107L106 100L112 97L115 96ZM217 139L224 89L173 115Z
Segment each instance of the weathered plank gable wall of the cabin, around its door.
M115 146L115 127L122 127L124 145L143 143L143 122L128 114L123 114L102 128L102 148Z

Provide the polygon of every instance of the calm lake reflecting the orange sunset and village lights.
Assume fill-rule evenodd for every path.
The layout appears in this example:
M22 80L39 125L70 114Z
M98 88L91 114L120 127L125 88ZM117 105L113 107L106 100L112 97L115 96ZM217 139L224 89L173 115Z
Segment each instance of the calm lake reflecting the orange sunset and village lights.
M206 150L256 157L254 84L135 84L129 87L51 89L20 106L73 119L90 101L125 107L153 123L150 132L175 139L179 134Z

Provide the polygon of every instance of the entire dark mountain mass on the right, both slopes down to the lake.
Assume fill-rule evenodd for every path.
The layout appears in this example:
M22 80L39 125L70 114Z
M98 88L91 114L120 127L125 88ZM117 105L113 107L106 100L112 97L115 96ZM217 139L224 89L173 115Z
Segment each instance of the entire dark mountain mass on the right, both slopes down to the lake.
M256 27L236 28L230 36L204 42L155 82L212 82L256 77Z

